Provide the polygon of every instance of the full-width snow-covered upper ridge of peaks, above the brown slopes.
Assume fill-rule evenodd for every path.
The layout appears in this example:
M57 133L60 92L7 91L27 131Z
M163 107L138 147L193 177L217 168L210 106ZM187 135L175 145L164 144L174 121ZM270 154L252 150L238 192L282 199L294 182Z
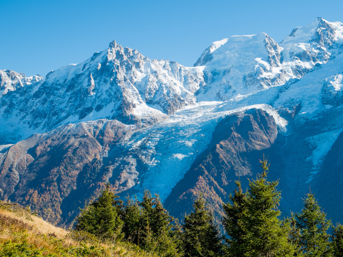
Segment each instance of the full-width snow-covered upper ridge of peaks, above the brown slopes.
M103 118L152 125L199 101L249 98L320 69L342 51L342 32L342 23L318 18L294 29L280 46L266 33L231 36L213 42L192 68L150 60L113 41L108 49L45 79L1 71L0 114L8 124L4 137ZM331 84L340 89L340 77Z

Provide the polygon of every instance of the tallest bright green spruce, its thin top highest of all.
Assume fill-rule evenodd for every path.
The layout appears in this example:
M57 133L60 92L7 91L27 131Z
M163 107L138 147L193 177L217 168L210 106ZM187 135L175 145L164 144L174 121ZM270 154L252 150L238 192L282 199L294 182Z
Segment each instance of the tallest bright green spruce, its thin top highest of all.
M247 194L250 256L291 256L293 247L288 243L289 224L278 218L281 214L277 208L281 198L281 192L276 189L279 181L267 181L270 164L264 156L259 162L263 171L258 179L249 181Z

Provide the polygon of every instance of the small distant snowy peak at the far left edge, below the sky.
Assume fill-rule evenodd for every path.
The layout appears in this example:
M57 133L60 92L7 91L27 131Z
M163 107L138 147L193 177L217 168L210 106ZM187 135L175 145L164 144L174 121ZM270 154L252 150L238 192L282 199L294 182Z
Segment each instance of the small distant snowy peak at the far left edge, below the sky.
M42 79L43 77L39 75L26 77L24 73L0 70L0 97L17 88L36 84L42 81Z

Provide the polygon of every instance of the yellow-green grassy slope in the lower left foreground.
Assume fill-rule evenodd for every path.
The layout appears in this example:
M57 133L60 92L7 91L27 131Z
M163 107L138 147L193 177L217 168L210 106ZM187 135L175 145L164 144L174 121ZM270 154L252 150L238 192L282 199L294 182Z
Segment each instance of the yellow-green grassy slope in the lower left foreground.
M99 240L86 232L68 232L29 209L0 201L0 256L154 257L126 242Z

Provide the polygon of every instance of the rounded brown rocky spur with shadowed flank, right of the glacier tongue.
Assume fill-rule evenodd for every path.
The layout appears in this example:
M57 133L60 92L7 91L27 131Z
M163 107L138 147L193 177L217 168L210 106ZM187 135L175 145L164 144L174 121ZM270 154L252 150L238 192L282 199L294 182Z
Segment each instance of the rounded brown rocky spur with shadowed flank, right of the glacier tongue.
M251 109L226 116L216 126L208 148L173 188L165 207L172 215L181 217L203 193L219 218L223 215L222 203L228 201L238 176L251 178L256 174L251 165L255 161L251 158L252 152L269 148L276 136L274 118L263 110ZM245 188L247 180L243 181Z

